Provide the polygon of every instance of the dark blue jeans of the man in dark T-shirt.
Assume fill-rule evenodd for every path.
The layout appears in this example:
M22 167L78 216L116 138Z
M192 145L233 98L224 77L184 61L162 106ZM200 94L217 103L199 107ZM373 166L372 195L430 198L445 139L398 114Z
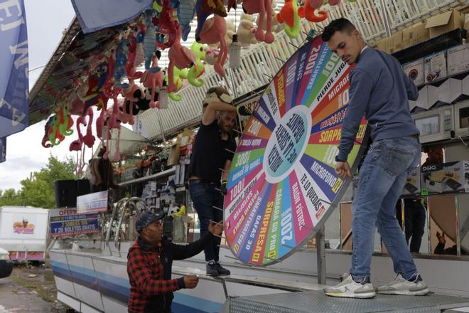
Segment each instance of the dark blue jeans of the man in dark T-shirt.
M194 203L195 211L200 220L200 237L208 233L208 224L211 221L220 222L223 220L223 211L216 208L223 208L223 196L220 191L215 190L215 185L208 182L190 182L190 199ZM207 243L204 248L205 260L215 260L218 262L220 254L220 237Z

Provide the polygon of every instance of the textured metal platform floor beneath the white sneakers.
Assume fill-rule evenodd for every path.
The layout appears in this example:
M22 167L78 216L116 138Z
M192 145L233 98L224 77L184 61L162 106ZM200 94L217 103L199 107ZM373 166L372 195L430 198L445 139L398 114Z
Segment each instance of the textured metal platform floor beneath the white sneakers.
M222 313L325 313L325 312L445 312L469 307L469 298L443 295L421 297L377 295L373 299L328 297L322 291L290 292L253 297L231 297ZM448 312L448 311L446 311Z

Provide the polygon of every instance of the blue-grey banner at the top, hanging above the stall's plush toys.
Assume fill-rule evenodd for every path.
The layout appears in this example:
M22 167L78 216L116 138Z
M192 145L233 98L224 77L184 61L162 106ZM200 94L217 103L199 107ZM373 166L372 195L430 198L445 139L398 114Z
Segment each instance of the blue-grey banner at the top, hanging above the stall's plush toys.
M153 0L72 0L83 33L131 21L151 4Z

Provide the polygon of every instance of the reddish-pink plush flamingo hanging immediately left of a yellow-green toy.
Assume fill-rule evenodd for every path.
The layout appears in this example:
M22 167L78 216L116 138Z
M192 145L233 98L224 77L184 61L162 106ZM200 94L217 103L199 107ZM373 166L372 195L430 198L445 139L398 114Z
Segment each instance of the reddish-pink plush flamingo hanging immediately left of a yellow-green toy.
M194 53L189 48L186 48L180 44L180 36L181 30L178 28L176 31L176 41L174 42L173 46L169 48L168 52L168 87L166 88L168 93L176 91L176 85L174 85L173 79L173 71L175 66L180 70L183 68L190 68L193 65L195 65L197 68L197 64L195 64Z

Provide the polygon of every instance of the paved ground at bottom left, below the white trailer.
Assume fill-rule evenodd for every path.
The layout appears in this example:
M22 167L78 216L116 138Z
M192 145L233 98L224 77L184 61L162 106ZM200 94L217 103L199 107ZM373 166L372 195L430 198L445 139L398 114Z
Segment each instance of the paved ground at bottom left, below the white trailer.
M56 297L50 268L16 266L10 277L0 278L0 313L65 313Z

